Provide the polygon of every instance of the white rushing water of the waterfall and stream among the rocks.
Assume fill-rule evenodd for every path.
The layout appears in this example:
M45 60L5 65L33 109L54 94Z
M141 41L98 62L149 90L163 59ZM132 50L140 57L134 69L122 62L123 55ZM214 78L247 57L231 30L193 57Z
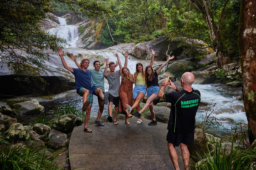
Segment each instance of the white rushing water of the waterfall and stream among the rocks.
M76 26L67 25L65 18L59 17L60 25L56 28L52 28L49 30L50 33L65 38L71 44L71 48L69 47L67 50L70 53L79 53L84 52L84 49L76 48L76 41L78 40L78 30ZM115 50L112 49L102 49L102 50L86 50L87 52L96 54L96 55L103 55L104 57L108 57L110 61L116 61L115 57ZM119 53L120 60L124 63L124 56ZM135 72L135 65L136 63L142 62L143 65L148 65L149 60L138 60L133 57L129 57L128 68L130 69L131 73ZM74 64L74 62L70 59L66 61L68 65ZM154 61L154 64L159 65L162 62ZM116 68L119 70L119 67ZM209 129L212 134L215 136L229 136L231 133L231 128L234 126L235 121L244 121L247 123L247 119L245 116L245 112L243 109L243 101L237 101L235 99L236 96L241 95L242 91L241 88L231 88L226 87L225 85L217 84L212 86L211 84L206 85L199 85L193 84L192 87L197 89L201 92L201 101L211 103L217 103L217 106L214 108L214 112L211 116L218 118L223 126L222 127L212 127ZM108 83L105 80L105 91L108 90ZM61 99L53 102L46 102L40 103L42 106L45 107L45 112L41 114L46 114L47 117L50 117L55 110L63 109L67 104L75 105L78 109L82 107L82 98L80 96ZM91 110L91 117L97 117L98 112L98 100L97 97L93 96L93 106ZM208 114L210 111L208 112ZM157 114L157 113L156 113ZM103 114L108 115L108 108L107 105L104 106ZM202 122L201 116L205 115L204 110L198 110L196 115L196 121ZM19 121L23 122L32 122L34 117L31 116L24 116L18 117Z

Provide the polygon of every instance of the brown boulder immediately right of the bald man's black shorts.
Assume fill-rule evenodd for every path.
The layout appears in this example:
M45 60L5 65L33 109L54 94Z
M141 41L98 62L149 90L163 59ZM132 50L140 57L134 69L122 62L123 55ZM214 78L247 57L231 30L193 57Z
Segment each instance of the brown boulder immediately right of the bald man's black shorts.
M204 131L200 128L195 128L194 143L188 145L190 157L193 159L197 157L197 154L204 157L204 153L207 153L207 138Z

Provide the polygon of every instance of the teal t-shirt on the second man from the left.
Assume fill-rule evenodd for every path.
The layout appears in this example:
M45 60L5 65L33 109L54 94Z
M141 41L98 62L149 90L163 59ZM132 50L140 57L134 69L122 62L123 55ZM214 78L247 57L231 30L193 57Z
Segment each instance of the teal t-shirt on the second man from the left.
M104 88L104 70L95 71L94 69L87 69L91 72L91 86L97 86L105 92Z

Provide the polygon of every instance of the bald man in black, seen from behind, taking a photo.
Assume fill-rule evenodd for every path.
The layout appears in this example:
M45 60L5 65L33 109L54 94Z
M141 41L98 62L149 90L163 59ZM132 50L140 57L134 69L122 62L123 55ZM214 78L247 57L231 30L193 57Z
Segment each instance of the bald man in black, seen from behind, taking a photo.
M195 116L201 100L200 92L191 87L194 79L195 77L191 72L185 72L180 79L183 90L179 90L167 77L158 92L158 98L172 104L166 140L175 170L179 170L175 146L180 145L184 169L188 170L189 151L187 144L194 142ZM176 92L164 93L166 86Z

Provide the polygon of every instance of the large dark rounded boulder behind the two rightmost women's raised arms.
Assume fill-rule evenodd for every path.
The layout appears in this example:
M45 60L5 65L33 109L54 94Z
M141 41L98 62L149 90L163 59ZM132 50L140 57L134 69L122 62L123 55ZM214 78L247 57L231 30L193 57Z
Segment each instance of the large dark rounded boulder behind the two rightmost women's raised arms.
M170 45L169 45L170 44ZM172 51L172 55L178 56L182 53L183 48L178 47L179 42L169 40L169 37L160 37L154 39L146 45L147 58L151 59L152 54L151 49L155 50L155 60L156 61L166 61L165 52L170 47L169 52Z

